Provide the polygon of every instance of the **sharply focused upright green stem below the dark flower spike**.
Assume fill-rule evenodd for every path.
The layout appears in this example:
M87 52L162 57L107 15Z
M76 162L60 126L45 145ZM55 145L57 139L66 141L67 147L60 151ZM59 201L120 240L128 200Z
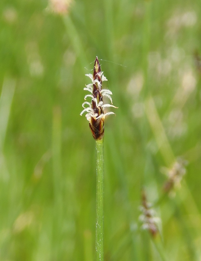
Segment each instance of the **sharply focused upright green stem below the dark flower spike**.
M104 193L104 147L103 147L103 139L102 139L102 140L96 140L96 261L104 260L103 193Z

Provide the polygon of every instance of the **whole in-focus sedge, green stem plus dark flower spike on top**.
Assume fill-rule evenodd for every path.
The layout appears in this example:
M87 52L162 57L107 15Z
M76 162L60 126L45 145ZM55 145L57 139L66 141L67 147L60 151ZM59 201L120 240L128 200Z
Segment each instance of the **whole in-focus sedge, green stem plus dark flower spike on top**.
M104 108L115 107L112 105L112 92L102 89L102 82L107 81L101 71L98 57L95 59L93 75L86 74L92 83L86 85L84 90L90 92L84 99L90 98L90 102L84 102L84 108L80 115L86 112L86 119L89 121L89 128L95 139L96 144L96 260L104 260L103 238L104 238L104 214L103 214L103 195L104 195L104 120L106 115L115 114L113 112L104 113ZM111 104L103 104L103 96L108 97ZM86 106L86 107L85 107Z

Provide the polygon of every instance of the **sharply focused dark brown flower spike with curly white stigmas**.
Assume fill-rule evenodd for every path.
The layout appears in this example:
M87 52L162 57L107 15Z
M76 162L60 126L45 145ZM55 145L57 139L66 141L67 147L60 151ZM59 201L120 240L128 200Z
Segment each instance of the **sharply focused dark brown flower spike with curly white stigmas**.
M84 90L89 91L91 94L87 94L84 97L86 100L87 97L91 98L91 102L84 102L82 107L84 110L80 113L86 113L86 119L89 121L89 127L91 133L95 140L101 140L104 137L104 120L106 115L115 114L113 112L104 113L105 107L113 107L117 108L112 104L112 92L107 89L102 89L102 81L107 81L106 77L103 75L101 71L101 67L98 61L98 57L95 59L93 75L86 74L91 81L92 84L86 85ZM103 104L103 96L106 96L111 101L111 104ZM88 105L89 107L85 108L84 105Z

